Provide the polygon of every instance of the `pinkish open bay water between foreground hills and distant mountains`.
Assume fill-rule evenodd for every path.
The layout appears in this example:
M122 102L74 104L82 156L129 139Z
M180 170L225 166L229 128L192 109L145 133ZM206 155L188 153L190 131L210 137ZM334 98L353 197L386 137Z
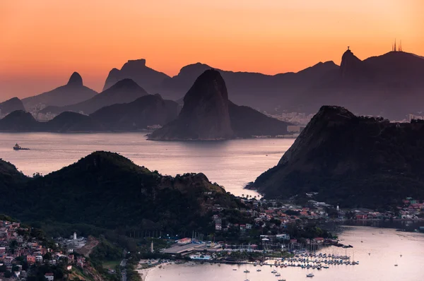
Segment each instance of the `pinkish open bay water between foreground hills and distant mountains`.
M15 143L31 150L14 151ZM292 144L288 139L158 142L146 140L144 133L0 133L0 157L24 174L48 174L107 150L162 174L203 172L235 195L255 195L242 187L276 165Z

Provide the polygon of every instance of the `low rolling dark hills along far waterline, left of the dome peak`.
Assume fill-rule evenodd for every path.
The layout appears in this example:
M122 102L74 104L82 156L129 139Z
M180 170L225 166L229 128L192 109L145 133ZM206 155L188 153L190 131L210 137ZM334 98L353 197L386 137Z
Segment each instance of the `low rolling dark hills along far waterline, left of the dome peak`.
M29 112L17 110L0 119L0 131L139 131L148 126L163 126L177 114L177 102L163 100L160 95L143 95L134 102L102 107L90 115L62 112L47 122L36 121Z

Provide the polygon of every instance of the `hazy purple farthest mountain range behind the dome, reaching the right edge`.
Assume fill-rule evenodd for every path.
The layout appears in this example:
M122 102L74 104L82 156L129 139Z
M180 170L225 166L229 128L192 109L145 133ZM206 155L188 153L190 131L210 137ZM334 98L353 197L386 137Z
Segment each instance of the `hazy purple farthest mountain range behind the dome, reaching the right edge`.
M116 71L111 71L105 88L110 86L110 81L116 80L115 77L138 77L140 80L136 81L140 85L147 83L146 80L155 81L149 84L149 91L179 100L189 90L192 81L210 68L206 64L190 64L182 67L177 76L167 77L148 68L142 59L139 64L132 63L126 71L119 71L119 76L114 74ZM322 104L337 104L356 114L404 119L406 114L424 109L420 105L424 102L424 81L420 79L424 76L424 59L407 52L389 52L361 60L348 49L340 66L326 61L298 73L273 76L217 70L223 76L233 102L268 112L310 114L316 113ZM149 75L145 79L143 73L146 71Z

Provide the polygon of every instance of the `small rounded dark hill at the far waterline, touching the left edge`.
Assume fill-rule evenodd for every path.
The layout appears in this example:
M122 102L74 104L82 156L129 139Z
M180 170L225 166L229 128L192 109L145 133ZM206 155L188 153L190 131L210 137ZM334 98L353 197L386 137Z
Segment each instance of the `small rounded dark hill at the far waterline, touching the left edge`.
M23 110L16 110L0 119L0 131L37 131L38 125L33 115Z

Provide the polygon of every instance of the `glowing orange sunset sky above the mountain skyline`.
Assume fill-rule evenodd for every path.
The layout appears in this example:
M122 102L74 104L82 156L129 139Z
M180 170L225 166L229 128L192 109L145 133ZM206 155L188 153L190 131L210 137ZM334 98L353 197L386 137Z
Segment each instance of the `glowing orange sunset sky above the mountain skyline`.
M63 85L101 90L128 59L176 75L201 61L233 71L299 71L390 51L423 55L422 0L0 1L0 101ZM141 85L143 86L143 85Z

